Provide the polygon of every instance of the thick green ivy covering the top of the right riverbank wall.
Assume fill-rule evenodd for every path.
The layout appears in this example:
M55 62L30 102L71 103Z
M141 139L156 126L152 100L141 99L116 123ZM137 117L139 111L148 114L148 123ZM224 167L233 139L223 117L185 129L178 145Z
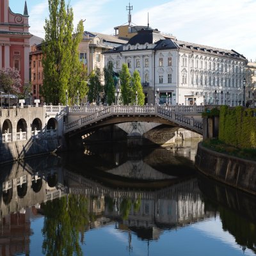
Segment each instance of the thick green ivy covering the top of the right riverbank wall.
M219 140L237 148L256 148L256 111L221 106Z

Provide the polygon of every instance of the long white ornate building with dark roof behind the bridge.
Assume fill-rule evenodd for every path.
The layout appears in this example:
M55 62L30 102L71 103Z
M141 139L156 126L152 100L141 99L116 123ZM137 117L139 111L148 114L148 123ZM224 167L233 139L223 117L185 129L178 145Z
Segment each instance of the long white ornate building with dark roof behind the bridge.
M125 45L107 52L119 72L127 63L138 70L148 104L228 104L245 102L243 79L246 58L234 50L217 49L164 38L142 29Z

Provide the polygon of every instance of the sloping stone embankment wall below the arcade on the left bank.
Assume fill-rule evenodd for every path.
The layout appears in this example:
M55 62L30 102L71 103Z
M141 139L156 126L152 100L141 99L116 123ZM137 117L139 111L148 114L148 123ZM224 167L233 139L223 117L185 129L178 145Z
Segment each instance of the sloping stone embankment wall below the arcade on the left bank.
M0 164L8 163L25 157L49 154L61 148L65 148L65 140L62 137L31 139L0 143Z

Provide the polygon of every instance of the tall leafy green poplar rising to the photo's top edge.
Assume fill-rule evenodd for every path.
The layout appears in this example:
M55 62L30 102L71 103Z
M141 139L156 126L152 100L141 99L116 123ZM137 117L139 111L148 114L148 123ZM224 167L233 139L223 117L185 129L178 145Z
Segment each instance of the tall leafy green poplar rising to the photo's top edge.
M45 40L42 45L44 58L44 86L42 94L46 102L65 103L66 90L70 104L74 103L77 90L83 97L86 89L86 72L79 62L77 47L83 35L83 21L72 35L73 11L65 6L65 0L48 0L49 20L45 20Z

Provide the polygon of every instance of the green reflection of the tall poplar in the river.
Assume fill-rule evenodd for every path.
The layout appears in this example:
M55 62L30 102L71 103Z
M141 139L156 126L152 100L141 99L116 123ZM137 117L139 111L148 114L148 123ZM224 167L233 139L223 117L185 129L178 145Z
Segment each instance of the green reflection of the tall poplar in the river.
M83 255L79 231L88 224L87 200L68 195L42 205L45 214L42 250L45 255Z

